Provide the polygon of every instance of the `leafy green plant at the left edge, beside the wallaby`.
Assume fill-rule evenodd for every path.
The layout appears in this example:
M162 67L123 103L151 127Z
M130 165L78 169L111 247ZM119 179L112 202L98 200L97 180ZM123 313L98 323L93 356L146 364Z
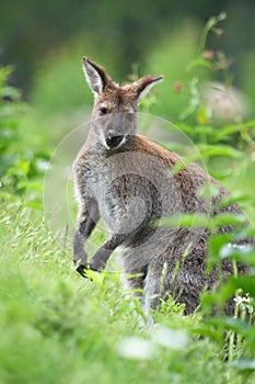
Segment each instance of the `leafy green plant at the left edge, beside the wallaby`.
M11 67L0 67L0 197L14 202L28 189L42 190L35 180L43 174L48 154L38 135L22 124L26 108L20 91L7 84L11 72Z

